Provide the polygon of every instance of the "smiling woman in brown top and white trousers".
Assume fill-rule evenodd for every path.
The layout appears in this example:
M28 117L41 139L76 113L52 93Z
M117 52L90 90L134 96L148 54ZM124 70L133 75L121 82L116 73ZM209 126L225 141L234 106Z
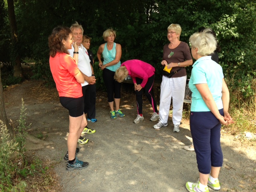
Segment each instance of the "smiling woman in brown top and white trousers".
M175 72L175 74L168 77L167 73L162 77L159 106L160 120L158 124L153 127L159 129L168 125L167 121L172 99L173 131L179 132L187 80L185 67L192 65L193 62L188 44L180 41L180 25L171 24L167 30L167 38L170 43L164 46L163 60L161 64L167 66L168 69L172 69L171 72Z

